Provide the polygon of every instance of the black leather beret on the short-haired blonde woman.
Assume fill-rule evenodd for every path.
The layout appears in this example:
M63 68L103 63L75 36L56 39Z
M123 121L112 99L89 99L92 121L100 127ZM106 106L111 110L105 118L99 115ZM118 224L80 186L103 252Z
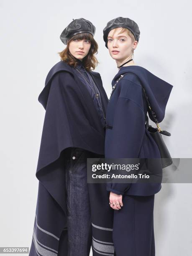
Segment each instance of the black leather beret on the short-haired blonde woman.
M114 28L128 28L135 36L136 41L139 41L140 31L137 23L129 18L118 17L110 20L107 26L103 29L103 39L105 46L108 48L108 34Z

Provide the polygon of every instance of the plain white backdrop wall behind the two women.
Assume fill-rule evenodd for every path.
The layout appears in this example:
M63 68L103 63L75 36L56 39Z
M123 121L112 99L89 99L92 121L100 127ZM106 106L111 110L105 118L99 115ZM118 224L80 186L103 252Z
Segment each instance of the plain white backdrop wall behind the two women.
M96 26L100 64L95 71L108 96L118 70L105 48L102 29L118 16L138 23L135 63L174 85L161 123L172 134L166 143L172 157L192 157L191 8L187 0L0 0L1 247L31 246L45 114L37 98L49 69L60 60L57 52L65 46L59 36L72 18L86 18ZM162 184L156 194L156 256L191 255L191 194L191 184Z

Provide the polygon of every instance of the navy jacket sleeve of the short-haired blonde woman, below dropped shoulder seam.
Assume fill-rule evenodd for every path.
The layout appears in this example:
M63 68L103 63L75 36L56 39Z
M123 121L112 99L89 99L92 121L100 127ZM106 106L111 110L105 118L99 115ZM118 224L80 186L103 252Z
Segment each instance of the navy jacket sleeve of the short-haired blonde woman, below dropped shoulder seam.
M138 158L145 131L144 111L137 102L119 97L115 108L110 146L105 158ZM130 183L107 183L107 190L123 195Z

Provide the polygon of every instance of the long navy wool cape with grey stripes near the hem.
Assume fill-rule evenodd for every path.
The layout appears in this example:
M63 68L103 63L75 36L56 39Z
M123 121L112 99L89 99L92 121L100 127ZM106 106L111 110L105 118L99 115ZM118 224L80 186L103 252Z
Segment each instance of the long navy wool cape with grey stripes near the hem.
M90 74L100 91L105 113L108 97L100 74L93 71ZM67 256L65 149L83 148L104 156L105 130L85 84L74 68L63 61L49 71L38 101L46 113L36 170L38 198L29 256ZM105 184L89 185L93 255L113 256L109 193Z

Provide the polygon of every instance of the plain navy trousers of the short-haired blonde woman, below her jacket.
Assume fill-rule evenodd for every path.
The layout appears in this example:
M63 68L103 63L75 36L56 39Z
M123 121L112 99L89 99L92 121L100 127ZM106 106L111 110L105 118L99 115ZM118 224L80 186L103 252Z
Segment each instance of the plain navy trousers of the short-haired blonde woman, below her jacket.
M114 210L113 242L117 256L155 256L154 195L124 195Z

